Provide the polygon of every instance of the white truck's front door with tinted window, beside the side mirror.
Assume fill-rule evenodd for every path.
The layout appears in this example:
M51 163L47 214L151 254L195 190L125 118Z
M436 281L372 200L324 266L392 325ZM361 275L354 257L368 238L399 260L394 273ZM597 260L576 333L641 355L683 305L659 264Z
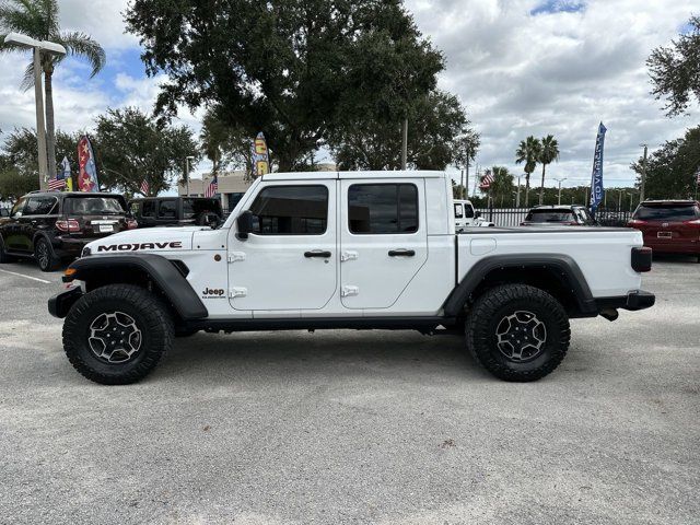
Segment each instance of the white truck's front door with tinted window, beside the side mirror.
M336 179L262 183L246 208L254 233L229 241L235 310L271 315L319 310L337 289ZM278 312L278 314L275 314ZM254 313L255 315L255 313Z

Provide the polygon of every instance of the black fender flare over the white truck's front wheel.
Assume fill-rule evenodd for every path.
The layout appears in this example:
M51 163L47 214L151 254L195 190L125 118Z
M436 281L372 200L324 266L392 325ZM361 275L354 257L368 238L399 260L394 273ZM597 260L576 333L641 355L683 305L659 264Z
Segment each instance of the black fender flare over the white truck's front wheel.
M115 268L136 268L144 271L163 291L184 320L201 319L209 315L203 303L183 273L170 259L155 254L98 255L73 261L69 269L75 270L65 281L89 281L91 276L112 272Z

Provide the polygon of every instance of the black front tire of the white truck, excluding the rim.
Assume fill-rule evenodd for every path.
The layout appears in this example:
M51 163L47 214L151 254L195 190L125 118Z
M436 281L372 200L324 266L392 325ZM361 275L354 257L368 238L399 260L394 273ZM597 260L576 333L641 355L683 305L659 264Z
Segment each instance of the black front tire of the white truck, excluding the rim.
M102 314L127 314L141 332L129 361L107 363L91 349L91 325ZM133 284L108 284L80 298L63 323L63 350L83 376L103 385L127 385L145 377L173 346L173 318L153 293Z

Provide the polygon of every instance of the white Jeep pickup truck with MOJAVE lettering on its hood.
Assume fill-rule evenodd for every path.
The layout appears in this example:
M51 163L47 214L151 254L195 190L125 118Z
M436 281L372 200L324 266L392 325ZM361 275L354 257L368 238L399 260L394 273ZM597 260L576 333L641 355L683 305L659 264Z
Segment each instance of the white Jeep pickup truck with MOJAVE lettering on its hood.
M272 173L219 228L96 240L49 300L85 377L144 377L199 330L459 330L497 377L534 381L567 353L569 319L641 310L651 250L630 229L455 234L441 172Z

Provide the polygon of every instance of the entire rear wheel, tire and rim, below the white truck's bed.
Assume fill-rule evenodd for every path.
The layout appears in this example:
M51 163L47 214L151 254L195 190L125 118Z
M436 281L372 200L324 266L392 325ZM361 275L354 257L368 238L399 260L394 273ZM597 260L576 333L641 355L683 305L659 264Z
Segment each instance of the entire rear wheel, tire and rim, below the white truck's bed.
M467 347L505 381L536 381L567 354L571 330L561 303L526 284L504 284L481 295L466 323Z

